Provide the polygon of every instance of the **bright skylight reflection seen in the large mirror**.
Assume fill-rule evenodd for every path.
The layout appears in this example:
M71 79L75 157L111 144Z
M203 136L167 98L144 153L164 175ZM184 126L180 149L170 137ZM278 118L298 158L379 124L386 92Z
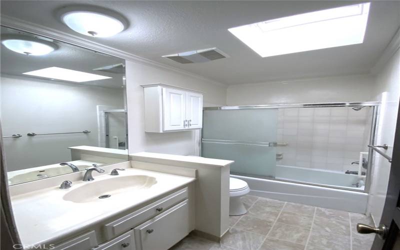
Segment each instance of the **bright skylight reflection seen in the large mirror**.
M112 78L112 77L103 76L103 75L99 75L99 74L86 73L86 72L62 68L62 67L47 67L47 68L43 68L43 69L26 72L23 74L40 76L40 77L51 78L51 79L58 79L58 80L74 81L74 82L83 82L83 81L90 81L90 80L101 80L101 79Z

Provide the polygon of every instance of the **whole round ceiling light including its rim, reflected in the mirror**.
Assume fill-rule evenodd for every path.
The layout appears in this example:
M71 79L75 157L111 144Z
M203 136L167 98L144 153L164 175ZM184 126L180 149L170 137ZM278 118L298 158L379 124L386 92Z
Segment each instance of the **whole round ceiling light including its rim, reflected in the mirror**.
M23 35L3 35L1 43L8 49L26 55L44 55L57 49L50 41Z

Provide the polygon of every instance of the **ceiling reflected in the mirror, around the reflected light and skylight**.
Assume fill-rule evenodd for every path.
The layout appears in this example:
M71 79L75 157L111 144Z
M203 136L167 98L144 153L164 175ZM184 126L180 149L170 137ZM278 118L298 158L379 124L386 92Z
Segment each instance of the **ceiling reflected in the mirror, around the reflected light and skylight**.
M0 31L1 35L21 34L32 36L31 34L5 27L1 27ZM51 53L40 56L16 53L7 49L1 44L1 74L24 78L37 78L36 76L22 75L22 73L46 67L57 66L112 77L110 79L79 82L77 84L96 85L103 87L122 86L123 74L107 73L92 69L106 65L125 63L124 60L67 43L59 41L53 42L58 46L58 48Z

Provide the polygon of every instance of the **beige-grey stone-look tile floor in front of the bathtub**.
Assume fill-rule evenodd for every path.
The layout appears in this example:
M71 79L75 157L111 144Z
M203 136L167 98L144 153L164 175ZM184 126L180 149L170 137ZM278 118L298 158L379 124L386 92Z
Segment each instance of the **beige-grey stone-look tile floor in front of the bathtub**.
M247 214L230 216L220 243L188 235L170 250L369 250L374 235L356 223L369 216L246 195Z

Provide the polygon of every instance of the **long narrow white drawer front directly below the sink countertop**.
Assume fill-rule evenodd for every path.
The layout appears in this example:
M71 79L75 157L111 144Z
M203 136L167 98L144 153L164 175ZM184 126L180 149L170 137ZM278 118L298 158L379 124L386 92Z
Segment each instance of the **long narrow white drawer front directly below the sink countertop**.
M187 187L106 224L104 226L104 235L107 240L111 239L116 235L143 223L143 221L160 214L184 199L187 199Z

